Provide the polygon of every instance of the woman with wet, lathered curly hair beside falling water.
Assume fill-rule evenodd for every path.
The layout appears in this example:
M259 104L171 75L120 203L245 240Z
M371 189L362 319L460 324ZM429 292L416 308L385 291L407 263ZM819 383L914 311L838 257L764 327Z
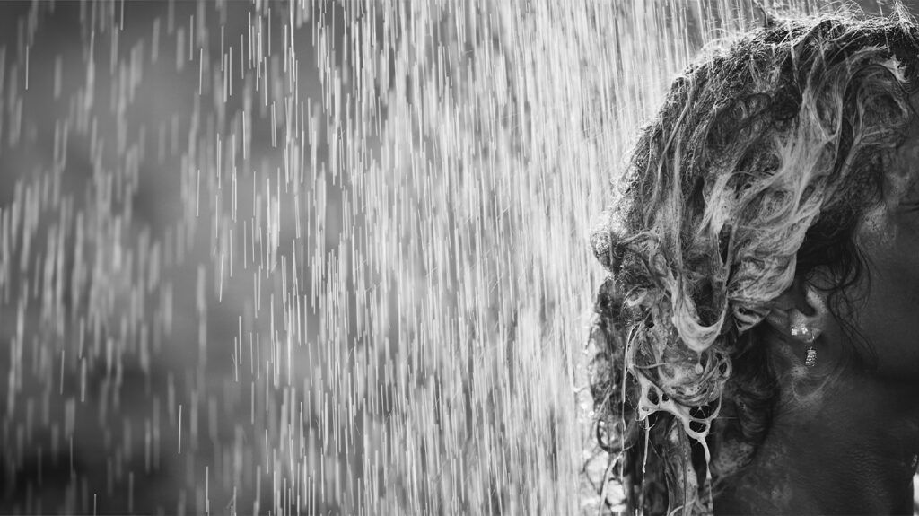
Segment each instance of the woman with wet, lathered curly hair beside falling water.
M643 129L594 237L629 511L912 513L919 28L770 19Z

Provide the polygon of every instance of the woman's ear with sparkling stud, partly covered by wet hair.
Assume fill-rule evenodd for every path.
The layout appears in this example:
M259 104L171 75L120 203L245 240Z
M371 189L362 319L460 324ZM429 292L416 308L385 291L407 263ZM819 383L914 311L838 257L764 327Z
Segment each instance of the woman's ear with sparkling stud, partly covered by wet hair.
M830 317L823 295L796 278L776 298L766 322L786 340L810 344L827 328Z

